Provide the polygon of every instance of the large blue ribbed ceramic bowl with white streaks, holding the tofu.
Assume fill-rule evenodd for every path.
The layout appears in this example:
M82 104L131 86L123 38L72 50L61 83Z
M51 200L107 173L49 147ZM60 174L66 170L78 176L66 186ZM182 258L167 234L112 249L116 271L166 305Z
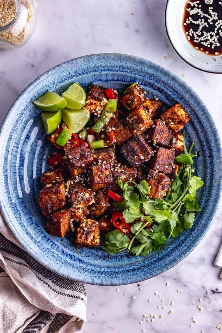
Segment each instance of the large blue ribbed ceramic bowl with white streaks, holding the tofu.
M165 109L180 102L191 116L186 141L195 142L196 174L204 180L198 192L201 212L193 227L162 250L135 257L125 252L109 256L101 247L76 249L71 236L46 232L38 205L39 176L53 148L46 140L41 111L32 102L47 90L58 94L78 82L124 90L139 82L150 98L159 97ZM142 281L160 274L185 258L203 238L216 214L221 193L221 146L216 126L196 93L165 68L121 54L98 54L70 60L31 83L9 110L0 132L0 205L3 217L24 248L49 269L66 277L98 285Z

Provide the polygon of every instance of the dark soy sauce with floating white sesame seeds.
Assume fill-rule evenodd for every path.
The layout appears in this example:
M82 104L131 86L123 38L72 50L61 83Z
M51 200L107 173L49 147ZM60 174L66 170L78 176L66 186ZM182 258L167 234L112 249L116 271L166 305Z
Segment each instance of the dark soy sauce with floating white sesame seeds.
M187 1L183 29L189 43L197 50L222 54L222 0Z

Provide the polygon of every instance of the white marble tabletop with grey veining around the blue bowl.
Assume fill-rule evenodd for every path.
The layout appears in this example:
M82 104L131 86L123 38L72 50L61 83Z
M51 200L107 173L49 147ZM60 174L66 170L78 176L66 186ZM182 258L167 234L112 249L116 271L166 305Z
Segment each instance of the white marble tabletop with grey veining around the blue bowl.
M164 25L166 0L39 0L37 5L30 41L16 51L0 50L0 123L22 90L49 68L82 55L111 52L149 59L183 78L207 105L222 134L221 75L198 71L174 52ZM210 230L186 259L139 286L118 290L87 285L82 332L219 331L222 282L213 261L222 238L221 220L219 208ZM142 321L143 315L149 322L147 317ZM150 315L156 318L151 321Z

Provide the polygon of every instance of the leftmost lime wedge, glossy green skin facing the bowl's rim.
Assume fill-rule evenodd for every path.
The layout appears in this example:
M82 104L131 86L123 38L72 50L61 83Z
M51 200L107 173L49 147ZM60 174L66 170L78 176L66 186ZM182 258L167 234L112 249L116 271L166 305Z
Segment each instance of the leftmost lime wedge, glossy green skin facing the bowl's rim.
M53 93L52 91L47 91L44 95L37 98L33 104L40 110L47 112L56 112L67 106L65 98Z

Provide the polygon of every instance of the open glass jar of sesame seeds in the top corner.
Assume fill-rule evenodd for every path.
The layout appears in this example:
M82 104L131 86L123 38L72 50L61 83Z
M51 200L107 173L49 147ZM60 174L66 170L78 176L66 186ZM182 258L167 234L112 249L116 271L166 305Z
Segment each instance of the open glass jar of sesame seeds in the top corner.
M0 49L22 47L36 26L34 0L0 0Z

